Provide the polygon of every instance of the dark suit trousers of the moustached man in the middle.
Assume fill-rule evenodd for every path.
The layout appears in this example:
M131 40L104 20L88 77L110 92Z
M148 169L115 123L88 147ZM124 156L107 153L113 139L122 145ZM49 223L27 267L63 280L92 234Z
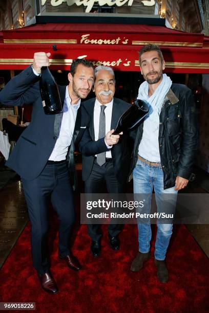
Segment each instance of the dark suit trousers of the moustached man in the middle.
M107 160L107 159L106 159ZM103 184L106 183L109 193L123 193L124 183L118 182L115 173L112 159L107 160L105 164L99 166L94 159L93 168L89 178L85 181L85 193L104 193ZM110 223L108 227L109 235L116 237L121 230L121 225ZM99 241L102 232L97 224L88 224L88 232L92 240Z

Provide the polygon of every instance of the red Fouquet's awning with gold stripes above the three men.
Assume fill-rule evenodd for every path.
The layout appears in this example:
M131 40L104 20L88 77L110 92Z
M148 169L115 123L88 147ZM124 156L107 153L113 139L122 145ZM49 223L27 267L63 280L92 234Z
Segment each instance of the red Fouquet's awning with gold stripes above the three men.
M209 73L209 37L163 26L37 24L4 30L3 40L0 69L24 69L35 52L45 51L51 52L52 69L69 70L80 57L119 71L139 71L138 50L153 42L162 49L167 72Z

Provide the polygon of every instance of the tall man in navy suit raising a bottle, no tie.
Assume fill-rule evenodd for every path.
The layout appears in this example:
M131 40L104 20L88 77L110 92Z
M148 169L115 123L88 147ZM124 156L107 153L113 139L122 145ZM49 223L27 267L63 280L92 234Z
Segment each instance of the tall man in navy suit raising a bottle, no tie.
M85 110L81 115L80 99L85 99L92 88L94 70L91 62L74 60L68 74L69 85L59 86L64 113L46 115L38 81L41 66L49 65L49 56L50 53L35 53L33 65L11 79L0 93L0 102L15 106L33 104L32 121L18 139L6 165L22 178L32 224L33 265L41 287L54 294L58 289L49 271L47 255L50 199L59 219L59 257L71 269L78 271L81 268L69 248L74 221L69 171L75 186L74 144L82 137L89 120Z

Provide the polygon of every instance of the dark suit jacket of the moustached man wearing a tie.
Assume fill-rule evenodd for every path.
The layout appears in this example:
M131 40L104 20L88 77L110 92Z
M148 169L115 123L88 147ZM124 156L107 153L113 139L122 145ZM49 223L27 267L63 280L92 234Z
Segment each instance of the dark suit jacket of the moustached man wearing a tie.
M95 98L87 100L82 103L83 108L85 108L90 117L89 128L86 129L82 136L81 141L78 146L82 153L82 179L86 181L92 171L94 163L94 155L102 151L107 151L105 149L105 143L103 139L99 139L94 142L94 105ZM115 129L120 116L128 110L131 104L124 102L120 99L114 98L113 100L113 110L111 119L111 129ZM130 132L123 132L120 136L119 142L114 145L111 149L112 160L114 165L114 172L117 177L118 182L125 183L128 179L131 155L133 151L134 140L131 137ZM93 155L94 154L94 155Z

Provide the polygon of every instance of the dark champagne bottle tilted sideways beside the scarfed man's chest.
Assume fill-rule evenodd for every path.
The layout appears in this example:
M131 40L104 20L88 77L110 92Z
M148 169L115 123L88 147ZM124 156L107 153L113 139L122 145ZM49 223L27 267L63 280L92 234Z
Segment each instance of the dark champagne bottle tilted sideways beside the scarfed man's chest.
M113 135L118 135L121 131L129 131L137 127L148 113L149 107L147 103L137 99L135 103L121 115Z

